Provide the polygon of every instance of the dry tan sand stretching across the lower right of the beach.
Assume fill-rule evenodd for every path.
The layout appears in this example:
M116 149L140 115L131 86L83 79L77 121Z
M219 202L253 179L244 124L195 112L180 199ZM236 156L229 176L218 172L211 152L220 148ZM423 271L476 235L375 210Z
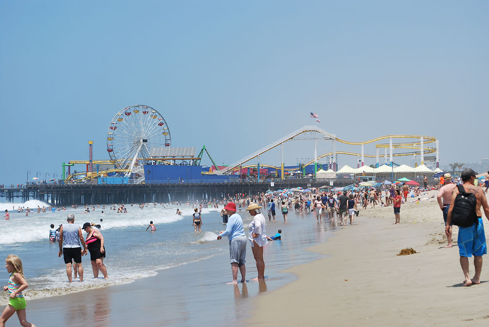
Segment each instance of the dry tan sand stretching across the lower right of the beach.
M454 247L443 248L436 194L422 196L419 204L408 198L400 225L393 224L392 206L360 211L354 226L310 248L331 257L286 270L298 280L258 297L246 325L488 326L489 266L483 265L480 285L462 286L458 227L453 228ZM488 238L485 217L484 225ZM406 247L419 253L397 256Z

